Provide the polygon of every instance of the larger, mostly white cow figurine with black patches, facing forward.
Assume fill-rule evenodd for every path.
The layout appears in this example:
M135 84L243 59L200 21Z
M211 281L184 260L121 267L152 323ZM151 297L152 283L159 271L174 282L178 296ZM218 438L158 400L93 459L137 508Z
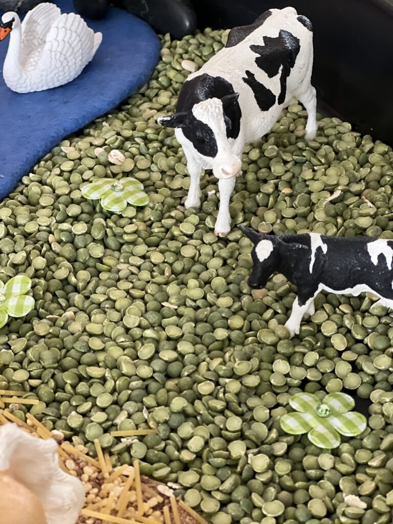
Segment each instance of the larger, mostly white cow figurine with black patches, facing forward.
M308 111L305 139L315 137L312 62L310 20L293 7L270 9L253 24L232 29L225 47L184 82L176 113L159 118L176 128L187 157L185 208L200 208L203 169L213 169L219 179L217 235L231 230L229 201L244 145L270 132L293 97Z

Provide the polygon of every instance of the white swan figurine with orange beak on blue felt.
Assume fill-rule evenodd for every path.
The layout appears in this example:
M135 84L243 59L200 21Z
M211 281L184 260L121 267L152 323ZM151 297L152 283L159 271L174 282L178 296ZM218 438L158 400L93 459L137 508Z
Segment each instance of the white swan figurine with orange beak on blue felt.
M31 9L20 23L16 13L2 16L0 40L10 35L4 81L17 93L56 88L78 77L92 60L102 34L75 13L61 14L49 3Z

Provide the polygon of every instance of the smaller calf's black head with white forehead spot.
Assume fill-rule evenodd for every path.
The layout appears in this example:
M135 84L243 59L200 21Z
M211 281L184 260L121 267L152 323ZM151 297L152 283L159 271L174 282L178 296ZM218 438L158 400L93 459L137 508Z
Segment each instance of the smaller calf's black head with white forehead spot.
M248 285L253 289L261 289L272 273L277 271L280 253L279 239L275 235L262 235L250 227L239 226L243 233L254 243L251 252L253 270L248 279Z

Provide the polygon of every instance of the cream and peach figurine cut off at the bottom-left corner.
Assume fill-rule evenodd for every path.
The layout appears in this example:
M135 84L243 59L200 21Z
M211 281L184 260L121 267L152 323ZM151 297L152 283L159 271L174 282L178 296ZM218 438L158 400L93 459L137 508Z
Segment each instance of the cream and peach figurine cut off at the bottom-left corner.
M15 424L0 428L0 522L75 524L84 504L79 479L59 466L57 443Z

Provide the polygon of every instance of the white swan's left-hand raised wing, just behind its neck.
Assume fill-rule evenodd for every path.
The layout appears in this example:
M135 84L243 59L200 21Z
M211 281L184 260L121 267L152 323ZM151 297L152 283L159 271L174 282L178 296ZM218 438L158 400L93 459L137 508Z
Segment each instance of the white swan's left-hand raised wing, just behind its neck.
M49 3L38 4L27 13L21 24L22 41L20 48L20 57L24 59L25 63L29 62L34 67L43 46L45 46L51 26L60 15L60 9ZM24 67L24 63L21 65Z

